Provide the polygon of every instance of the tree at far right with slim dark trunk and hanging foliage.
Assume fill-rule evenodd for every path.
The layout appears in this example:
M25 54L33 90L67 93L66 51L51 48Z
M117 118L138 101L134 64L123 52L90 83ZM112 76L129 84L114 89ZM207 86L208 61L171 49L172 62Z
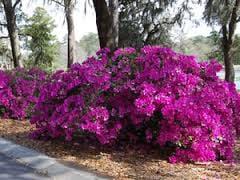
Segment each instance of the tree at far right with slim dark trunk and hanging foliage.
M231 50L236 25L240 20L240 0L207 0L204 17L211 25L220 25L225 64L225 80L234 82L235 73Z

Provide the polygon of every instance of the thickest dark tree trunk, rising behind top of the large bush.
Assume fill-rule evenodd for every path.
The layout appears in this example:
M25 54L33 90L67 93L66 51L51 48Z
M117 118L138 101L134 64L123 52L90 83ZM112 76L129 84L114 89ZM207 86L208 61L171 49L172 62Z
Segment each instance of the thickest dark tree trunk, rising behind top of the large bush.
M114 50L118 47L119 2L118 0L93 0L100 47Z

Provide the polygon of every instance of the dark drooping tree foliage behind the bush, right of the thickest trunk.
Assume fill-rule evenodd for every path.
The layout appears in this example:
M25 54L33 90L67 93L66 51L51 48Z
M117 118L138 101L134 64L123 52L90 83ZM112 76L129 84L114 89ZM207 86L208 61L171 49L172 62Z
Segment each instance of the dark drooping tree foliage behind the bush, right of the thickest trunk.
M171 46L170 31L175 24L181 25L188 1L176 0L120 0L121 47L142 47L148 44Z

